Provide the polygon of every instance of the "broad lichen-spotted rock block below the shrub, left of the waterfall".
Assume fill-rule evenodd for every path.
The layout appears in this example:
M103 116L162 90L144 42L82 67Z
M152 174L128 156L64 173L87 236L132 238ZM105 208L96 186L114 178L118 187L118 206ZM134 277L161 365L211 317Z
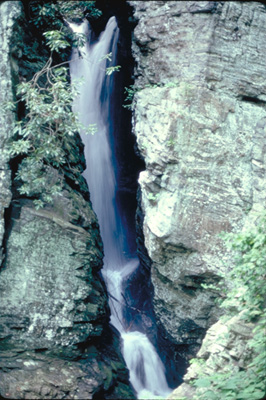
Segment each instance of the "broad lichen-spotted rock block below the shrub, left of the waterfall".
M13 206L6 241L1 339L13 348L71 349L100 336L108 315L95 217L87 208L85 229L68 220L66 207L60 215L23 203Z

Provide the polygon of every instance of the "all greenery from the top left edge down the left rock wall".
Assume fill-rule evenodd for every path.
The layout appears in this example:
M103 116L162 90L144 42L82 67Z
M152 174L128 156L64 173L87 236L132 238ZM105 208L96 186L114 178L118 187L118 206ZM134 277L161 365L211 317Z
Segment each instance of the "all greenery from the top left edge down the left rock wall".
M73 84L70 85L68 61L64 57L63 61L60 59L60 52L84 42L82 34L71 33L65 20L81 20L84 16L97 18L101 12L94 3L32 1L29 4L30 24L41 30L41 40L46 40L44 53L48 61L44 61L45 56L38 55L38 43L35 41L33 48L36 55L33 58L36 62L33 67L37 67L37 71L27 81L21 77L16 88L18 101L8 104L11 108L15 108L16 103L24 105L22 116L14 123L8 152L12 157L22 159L16 174L18 190L20 194L34 198L36 207L51 203L54 196L60 195L64 169L70 169L74 175L80 174L79 169L75 170L69 164L68 156L73 145L71 136L84 127L71 109L78 91L74 90ZM30 45L25 47L23 67L27 69L32 57ZM88 129L90 133L94 130L92 126Z

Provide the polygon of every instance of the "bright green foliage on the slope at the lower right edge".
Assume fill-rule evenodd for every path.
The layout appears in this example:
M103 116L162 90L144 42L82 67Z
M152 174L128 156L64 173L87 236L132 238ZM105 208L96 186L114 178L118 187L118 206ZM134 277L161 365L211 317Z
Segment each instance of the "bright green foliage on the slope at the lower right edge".
M265 395L266 372L266 214L259 218L253 230L224 237L236 258L234 268L226 277L232 288L224 293L221 307L227 310L227 317L241 313L244 321L256 325L253 337L247 342L252 356L247 366L236 371L232 366L225 366L208 375L203 365L203 373L194 381L197 388L194 399L259 400Z

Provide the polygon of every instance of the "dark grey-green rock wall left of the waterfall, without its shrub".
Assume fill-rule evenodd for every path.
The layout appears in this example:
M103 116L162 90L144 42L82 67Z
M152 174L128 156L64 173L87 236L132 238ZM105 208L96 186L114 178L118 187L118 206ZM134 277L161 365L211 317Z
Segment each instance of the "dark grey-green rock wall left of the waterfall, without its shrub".
M23 31L19 24L26 22L20 2L7 1L0 7L4 57L0 96L11 100L10 53L19 44L11 43L10 38L16 29ZM21 20L15 28L18 16ZM23 41L23 36L19 39ZM20 45L23 49L23 43ZM19 57L22 55L17 54ZM14 67L13 79L18 81L15 62ZM12 115L2 113L1 157L11 123ZM107 292L100 275L102 241L81 175L84 156L78 136L69 139L67 151L69 167L64 171L63 192L40 210L32 198L18 194L14 182L11 187L8 159L0 160L2 219L6 208L5 224L2 219L0 222L4 248L0 397L134 398L118 333L109 326ZM56 174L55 169L48 170L51 180Z

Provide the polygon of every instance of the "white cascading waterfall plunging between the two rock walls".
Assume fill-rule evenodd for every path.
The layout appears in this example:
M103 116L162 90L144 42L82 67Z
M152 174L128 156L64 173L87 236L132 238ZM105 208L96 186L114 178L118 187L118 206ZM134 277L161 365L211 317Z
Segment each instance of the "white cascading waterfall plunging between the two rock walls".
M102 270L109 292L111 323L121 333L123 355L130 371L130 381L142 398L165 398L170 389L165 378L164 366L147 336L129 329L130 321L123 317L123 282L139 266L137 258L126 255L124 231L115 204L116 178L110 149L110 95L112 77L106 76L107 54L115 59L119 35L115 17L108 21L105 31L96 42L90 40L88 22L69 24L73 31L83 33L87 44L74 49L70 62L71 80L82 78L80 94L73 105L84 126L95 124L97 133L81 132L85 145L87 169L84 177L88 182L93 208L98 216L104 244Z

